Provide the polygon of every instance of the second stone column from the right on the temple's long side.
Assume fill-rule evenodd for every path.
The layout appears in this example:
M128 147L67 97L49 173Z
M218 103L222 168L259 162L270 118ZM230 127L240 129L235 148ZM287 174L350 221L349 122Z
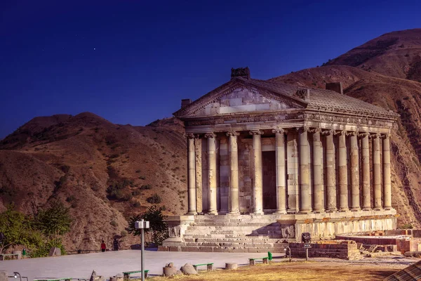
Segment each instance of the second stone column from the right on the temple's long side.
M373 138L373 188L374 209L382 209L382 168L380 163L380 134L375 133Z

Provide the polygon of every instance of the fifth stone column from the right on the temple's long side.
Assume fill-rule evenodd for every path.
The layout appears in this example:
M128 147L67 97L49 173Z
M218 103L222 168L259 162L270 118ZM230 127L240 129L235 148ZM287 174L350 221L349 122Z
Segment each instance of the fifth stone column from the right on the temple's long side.
M339 210L348 211L348 166L347 166L347 143L346 131L338 132L339 135Z

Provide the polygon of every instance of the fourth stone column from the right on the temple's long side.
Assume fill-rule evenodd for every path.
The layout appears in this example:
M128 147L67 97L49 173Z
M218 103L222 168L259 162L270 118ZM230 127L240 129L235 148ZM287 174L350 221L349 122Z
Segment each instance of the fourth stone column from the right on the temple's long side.
M359 192L359 153L358 140L355 131L348 134L349 136L349 154L351 157L351 209L352 211L360 210L360 192Z

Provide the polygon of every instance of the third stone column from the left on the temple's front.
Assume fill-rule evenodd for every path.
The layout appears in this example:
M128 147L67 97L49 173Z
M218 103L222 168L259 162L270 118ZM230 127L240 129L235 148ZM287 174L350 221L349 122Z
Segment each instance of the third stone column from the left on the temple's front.
M230 131L229 136L229 214L239 214L239 149L237 136L239 133Z

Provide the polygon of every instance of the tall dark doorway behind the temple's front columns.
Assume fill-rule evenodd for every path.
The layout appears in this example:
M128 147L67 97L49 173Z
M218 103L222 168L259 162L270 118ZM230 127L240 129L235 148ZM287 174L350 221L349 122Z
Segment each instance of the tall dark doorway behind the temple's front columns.
M276 209L276 154L262 152L263 209Z

